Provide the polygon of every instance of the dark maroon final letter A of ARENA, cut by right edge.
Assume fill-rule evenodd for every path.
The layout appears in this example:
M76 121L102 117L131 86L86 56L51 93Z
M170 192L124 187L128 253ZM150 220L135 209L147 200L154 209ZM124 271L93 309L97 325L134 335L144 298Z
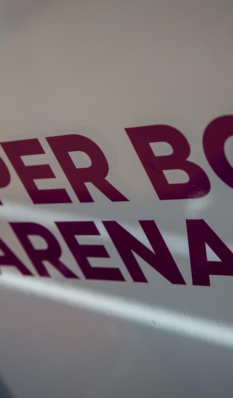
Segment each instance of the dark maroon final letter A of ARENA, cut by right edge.
M204 220L186 220L192 284L210 286L210 275L233 276L233 254ZM208 261L206 244L221 261Z

